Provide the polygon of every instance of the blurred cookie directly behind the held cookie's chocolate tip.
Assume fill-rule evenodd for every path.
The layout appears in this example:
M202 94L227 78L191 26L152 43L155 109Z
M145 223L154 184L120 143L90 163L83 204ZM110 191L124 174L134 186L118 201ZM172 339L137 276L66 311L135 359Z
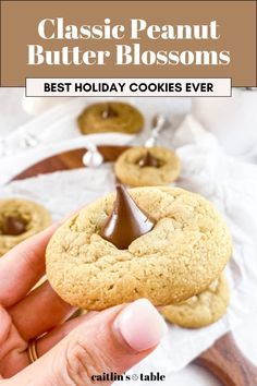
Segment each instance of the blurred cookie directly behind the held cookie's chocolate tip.
M167 185L178 179L181 162L173 150L164 147L132 147L121 154L114 170L119 180L130 186Z

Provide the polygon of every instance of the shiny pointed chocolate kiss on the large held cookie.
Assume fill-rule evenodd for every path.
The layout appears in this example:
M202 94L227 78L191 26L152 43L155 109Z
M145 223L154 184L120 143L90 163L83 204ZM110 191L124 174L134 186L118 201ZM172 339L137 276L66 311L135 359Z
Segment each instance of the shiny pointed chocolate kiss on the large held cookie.
M126 250L132 241L149 232L154 226L155 222L138 208L125 188L118 184L112 213L99 234L120 250Z

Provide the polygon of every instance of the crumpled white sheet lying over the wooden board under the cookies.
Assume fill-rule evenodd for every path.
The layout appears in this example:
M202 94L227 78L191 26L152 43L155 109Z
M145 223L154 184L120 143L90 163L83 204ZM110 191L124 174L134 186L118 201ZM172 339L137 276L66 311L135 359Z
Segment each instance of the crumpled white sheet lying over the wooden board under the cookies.
M133 369L134 373L178 371L216 339L257 312L257 166L227 156L215 136L187 116L170 146L182 159L178 185L212 201L225 216L234 251L228 266L232 289L229 312L218 323L196 330L169 327L158 349ZM114 188L112 165L77 169L12 182L1 196L24 196L44 204L59 219ZM122 386L124 383L117 383ZM139 385L140 383L134 383Z

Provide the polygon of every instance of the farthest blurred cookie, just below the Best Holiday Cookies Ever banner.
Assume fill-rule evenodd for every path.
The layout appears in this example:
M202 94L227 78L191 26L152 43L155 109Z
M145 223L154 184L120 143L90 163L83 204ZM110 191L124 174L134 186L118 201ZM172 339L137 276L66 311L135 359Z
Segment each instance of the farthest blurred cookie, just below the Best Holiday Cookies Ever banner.
M118 132L138 133L144 125L142 113L128 104L111 101L88 106L78 117L83 134Z

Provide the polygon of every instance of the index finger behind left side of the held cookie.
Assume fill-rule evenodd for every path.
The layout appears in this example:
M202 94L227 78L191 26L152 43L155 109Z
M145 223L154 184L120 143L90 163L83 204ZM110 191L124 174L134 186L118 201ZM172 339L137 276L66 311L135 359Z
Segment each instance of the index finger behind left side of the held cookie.
M45 274L46 248L59 225L23 241L0 258L0 304L9 307L19 302Z

